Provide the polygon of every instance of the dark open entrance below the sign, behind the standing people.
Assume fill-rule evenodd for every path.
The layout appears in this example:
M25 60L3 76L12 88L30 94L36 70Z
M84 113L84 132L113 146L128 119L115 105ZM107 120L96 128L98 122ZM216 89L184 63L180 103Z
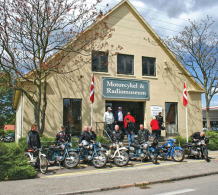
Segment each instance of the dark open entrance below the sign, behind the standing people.
M122 107L125 114L130 112L135 118L135 131L139 130L139 125L144 124L144 102L127 102L127 101L106 101L105 110L108 106L112 108L113 114Z

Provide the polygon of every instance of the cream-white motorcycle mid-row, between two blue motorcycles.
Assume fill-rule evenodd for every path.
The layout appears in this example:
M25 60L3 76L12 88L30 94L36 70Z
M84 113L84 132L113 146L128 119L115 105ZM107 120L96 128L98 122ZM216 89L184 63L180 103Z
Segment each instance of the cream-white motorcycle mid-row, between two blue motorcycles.
M116 141L110 145L105 145L104 148L107 149L106 155L108 160L113 160L114 163L121 167L125 166L129 162L129 154L127 153L128 149L123 147L123 143Z

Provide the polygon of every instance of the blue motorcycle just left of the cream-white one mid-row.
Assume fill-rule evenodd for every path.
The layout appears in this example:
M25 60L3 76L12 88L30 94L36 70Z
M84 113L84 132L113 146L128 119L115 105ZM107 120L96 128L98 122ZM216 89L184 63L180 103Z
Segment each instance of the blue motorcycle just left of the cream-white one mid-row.
M102 168L107 163L106 150L102 148L101 143L89 143L83 140L81 146L73 151L78 154L80 160L92 161L96 168Z

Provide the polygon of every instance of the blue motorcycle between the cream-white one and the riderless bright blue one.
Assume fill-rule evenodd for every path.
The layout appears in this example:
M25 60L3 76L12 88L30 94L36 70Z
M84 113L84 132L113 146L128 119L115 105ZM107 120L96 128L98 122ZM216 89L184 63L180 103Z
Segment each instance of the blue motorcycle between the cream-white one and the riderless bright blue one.
M153 135L148 137L148 141L139 145L131 144L129 148L129 157L134 160L147 161L150 159L154 164L157 164L156 146L158 141Z

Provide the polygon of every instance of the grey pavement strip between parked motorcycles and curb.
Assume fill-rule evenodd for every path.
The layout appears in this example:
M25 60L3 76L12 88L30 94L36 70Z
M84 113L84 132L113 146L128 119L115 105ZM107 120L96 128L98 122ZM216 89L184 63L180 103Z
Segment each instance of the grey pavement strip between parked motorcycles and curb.
M209 152L211 162L185 159L184 162L159 161L152 163L130 162L126 167L110 166L96 169L81 165L77 169L50 170L48 174L39 174L40 178L0 182L1 195L26 194L75 194L97 192L100 190L121 188L148 182L162 182L184 177L218 174L218 151ZM51 167L50 169L54 169ZM128 188L131 189L131 188Z

